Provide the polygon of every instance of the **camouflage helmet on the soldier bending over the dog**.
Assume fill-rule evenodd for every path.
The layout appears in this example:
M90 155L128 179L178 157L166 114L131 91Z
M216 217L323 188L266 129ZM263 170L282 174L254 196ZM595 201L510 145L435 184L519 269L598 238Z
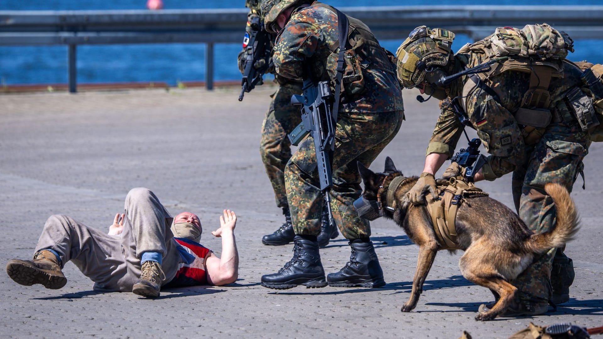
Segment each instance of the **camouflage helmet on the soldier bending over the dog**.
M397 75L402 86L412 88L425 80L436 67L448 65L453 57L455 34L441 28L420 26L411 31L396 51Z

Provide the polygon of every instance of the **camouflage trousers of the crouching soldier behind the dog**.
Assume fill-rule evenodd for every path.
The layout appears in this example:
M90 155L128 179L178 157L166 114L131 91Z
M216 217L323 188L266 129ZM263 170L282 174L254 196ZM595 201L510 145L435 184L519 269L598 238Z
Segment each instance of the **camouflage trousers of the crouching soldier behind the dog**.
M545 192L545 183L558 182L572 191L582 159L588 153L590 141L587 138L577 123L551 124L540 141L529 148L523 166L513 172L513 200L519 217L529 229L541 233L555 227L557 212L551 197ZM558 268L569 268L570 260L561 249L552 249L535 258L534 264L513 282L520 291L519 299L529 303L548 302L551 280L553 284L569 287L573 268L571 273L558 269L551 274L551 265L555 261Z

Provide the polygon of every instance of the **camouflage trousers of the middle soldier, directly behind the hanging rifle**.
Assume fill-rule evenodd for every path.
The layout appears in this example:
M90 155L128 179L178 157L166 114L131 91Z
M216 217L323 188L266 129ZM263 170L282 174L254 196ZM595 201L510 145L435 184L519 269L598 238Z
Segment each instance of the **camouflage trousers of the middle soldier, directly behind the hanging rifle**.
M380 113L339 113L333 154L333 218L347 239L368 237L367 220L358 217L353 202L360 197L361 177L356 162L370 166L396 136L404 118L402 110ZM296 234L318 235L323 196L318 182L314 140L308 136L285 169L287 200Z

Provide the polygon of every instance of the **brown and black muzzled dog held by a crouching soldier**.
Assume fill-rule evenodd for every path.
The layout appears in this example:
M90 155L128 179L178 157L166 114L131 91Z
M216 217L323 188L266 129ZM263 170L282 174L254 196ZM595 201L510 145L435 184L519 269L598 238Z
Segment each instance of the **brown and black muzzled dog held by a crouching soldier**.
M362 196L373 201L387 194L394 177L402 176L390 157L385 160L383 173L373 173L360 162L358 170L364 182ZM412 293L402 312L417 306L435 254L441 249L428 209L425 205L412 204L406 196L417 179L409 177L398 186L393 194L393 211L385 206L379 208L380 216L393 219L419 247ZM546 233L535 234L510 208L486 195L469 195L458 207L457 241L459 249L465 252L459 260L461 273L470 282L487 287L494 296L499 296L489 311L476 315L476 320L492 320L502 314L517 294L517 288L510 282L532 264L535 255L563 247L578 230L578 213L567 189L558 183L548 183L545 191L557 209L557 225Z

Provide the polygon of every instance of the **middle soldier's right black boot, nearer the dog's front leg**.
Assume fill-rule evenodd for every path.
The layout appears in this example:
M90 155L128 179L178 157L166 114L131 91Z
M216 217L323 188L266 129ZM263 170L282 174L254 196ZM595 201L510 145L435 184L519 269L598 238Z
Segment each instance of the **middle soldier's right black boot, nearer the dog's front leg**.
M368 238L350 241L350 261L337 273L329 273L327 282L332 287L382 287L383 270L379 265L373 242Z

